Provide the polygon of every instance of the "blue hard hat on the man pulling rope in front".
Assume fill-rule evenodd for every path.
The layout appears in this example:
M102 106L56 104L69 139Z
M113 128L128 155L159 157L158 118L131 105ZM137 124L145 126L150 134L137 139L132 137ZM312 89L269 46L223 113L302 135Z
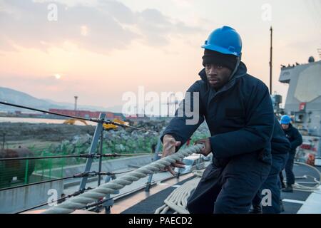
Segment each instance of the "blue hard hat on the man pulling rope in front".
M240 57L242 40L234 28L223 26L210 33L202 48Z

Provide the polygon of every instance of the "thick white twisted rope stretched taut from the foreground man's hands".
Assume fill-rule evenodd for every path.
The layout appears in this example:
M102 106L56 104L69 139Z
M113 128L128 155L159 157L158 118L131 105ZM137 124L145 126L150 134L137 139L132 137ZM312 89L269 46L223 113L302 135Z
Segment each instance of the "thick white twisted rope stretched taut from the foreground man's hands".
M105 197L107 194L113 194L116 190L120 190L126 185L131 185L132 182L137 181L147 175L158 172L164 167L182 159L183 157L187 157L193 153L198 153L203 148L202 144L193 145L190 147L186 147L185 149L179 150L173 155L169 155L168 157L163 157L160 160L152 162L149 165L145 165L143 167L134 170L133 172L128 172L128 174L118 177L111 182L100 185L93 190L88 192L84 192L81 195L76 197L72 197L71 199L66 200L65 202L58 204L54 207L47 209L42 212L43 214L68 214L76 209L81 209L86 207L87 204L91 202L95 202L97 199L101 199Z

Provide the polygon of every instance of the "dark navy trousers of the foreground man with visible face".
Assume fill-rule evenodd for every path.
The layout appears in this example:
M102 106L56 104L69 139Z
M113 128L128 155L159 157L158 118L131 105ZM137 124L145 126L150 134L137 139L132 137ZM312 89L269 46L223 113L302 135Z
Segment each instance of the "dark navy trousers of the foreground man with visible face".
M255 153L233 157L225 167L209 165L188 199L191 214L248 213L252 199L270 172Z

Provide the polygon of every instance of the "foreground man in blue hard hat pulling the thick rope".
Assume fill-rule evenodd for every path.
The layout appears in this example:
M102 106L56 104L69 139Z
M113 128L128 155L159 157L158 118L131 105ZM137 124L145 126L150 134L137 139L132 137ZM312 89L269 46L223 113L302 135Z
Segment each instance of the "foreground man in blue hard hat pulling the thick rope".
M242 41L234 28L215 29L202 48L200 80L190 86L163 132L162 156L177 151L206 120L211 136L198 143L205 145L203 155L213 153L213 164L188 199L188 210L248 213L270 172L274 125L270 94L262 81L247 73L241 62ZM175 162L173 167L183 164ZM175 174L172 167L167 170Z

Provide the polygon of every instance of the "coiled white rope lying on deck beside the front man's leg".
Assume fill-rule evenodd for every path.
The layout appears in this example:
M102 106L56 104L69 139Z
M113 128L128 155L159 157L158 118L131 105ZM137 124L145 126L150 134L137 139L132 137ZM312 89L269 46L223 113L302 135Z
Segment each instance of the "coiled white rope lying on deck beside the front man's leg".
M187 201L190 194L197 187L198 182L200 182L200 177L203 175L203 172L198 170L197 172L194 172L194 175L197 177L185 182L182 186L170 193L170 195L164 200L163 206L156 209L155 214L165 214L168 212L168 209L173 209L173 211L175 211L174 214L189 214L186 209Z

